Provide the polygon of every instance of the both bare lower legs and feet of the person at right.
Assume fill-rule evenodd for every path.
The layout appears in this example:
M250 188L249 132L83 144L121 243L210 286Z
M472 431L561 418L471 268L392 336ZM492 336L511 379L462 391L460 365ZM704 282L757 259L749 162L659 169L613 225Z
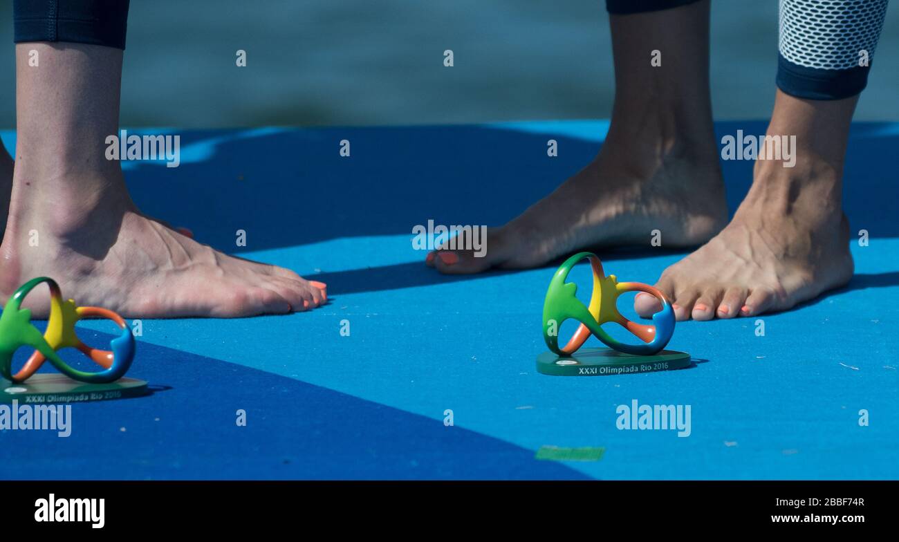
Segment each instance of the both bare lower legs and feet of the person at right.
M768 135L795 138L796 163L759 160L726 224L709 90L708 0L610 15L615 102L599 155L546 199L488 230L483 258L430 253L445 273L527 268L614 245L700 245L656 283L679 320L785 310L837 288L853 271L842 169L858 96L799 99L777 91ZM663 51L653 66L648 51ZM725 226L726 224L726 226ZM458 246L458 244L457 244ZM648 295L636 312L661 309Z

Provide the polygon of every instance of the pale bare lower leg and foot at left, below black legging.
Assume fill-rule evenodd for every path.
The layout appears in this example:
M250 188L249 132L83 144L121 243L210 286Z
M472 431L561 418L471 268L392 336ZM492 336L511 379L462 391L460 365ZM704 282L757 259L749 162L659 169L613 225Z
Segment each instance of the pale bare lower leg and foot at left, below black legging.
M40 67L28 66L31 49ZM80 305L144 317L321 303L321 283L218 253L138 211L120 164L105 159L106 138L118 133L121 61L120 49L96 45L16 46L17 161L0 292L48 275ZM46 315L35 301L35 314Z

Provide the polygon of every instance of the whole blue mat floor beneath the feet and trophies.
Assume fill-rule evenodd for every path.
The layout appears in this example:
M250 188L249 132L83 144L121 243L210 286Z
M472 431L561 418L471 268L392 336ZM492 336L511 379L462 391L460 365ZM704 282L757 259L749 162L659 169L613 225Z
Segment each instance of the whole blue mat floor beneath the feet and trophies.
M852 244L850 284L763 316L764 336L754 319L678 324L670 348L698 360L690 369L540 375L552 268L448 277L423 265L415 225L502 224L586 164L607 127L179 132L180 167L124 164L138 205L221 250L325 281L330 303L145 320L129 376L156 392L74 405L68 438L0 431L0 478L899 478L899 124L852 129L845 207L853 235L870 240ZM719 138L736 129L764 124L717 124ZM2 136L10 147L14 135ZM752 162L723 168L733 212ZM619 279L652 283L682 254L601 257ZM616 407L634 399L690 404L690 436L620 431ZM605 454L539 460L542 446Z

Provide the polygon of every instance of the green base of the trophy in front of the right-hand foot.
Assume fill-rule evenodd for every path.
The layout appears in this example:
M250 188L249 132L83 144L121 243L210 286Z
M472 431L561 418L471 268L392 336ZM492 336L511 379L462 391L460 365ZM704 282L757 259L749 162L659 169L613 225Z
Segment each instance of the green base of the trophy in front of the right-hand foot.
M537 357L537 370L556 377L601 377L683 369L690 363L687 352L663 350L652 356L636 356L610 348L585 348L562 357L543 352Z

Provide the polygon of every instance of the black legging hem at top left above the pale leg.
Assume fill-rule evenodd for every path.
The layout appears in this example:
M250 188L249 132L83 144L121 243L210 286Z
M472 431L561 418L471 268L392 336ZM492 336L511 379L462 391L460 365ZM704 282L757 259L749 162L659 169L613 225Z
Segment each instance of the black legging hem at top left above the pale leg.
M15 42L68 41L125 49L129 0L15 0Z

